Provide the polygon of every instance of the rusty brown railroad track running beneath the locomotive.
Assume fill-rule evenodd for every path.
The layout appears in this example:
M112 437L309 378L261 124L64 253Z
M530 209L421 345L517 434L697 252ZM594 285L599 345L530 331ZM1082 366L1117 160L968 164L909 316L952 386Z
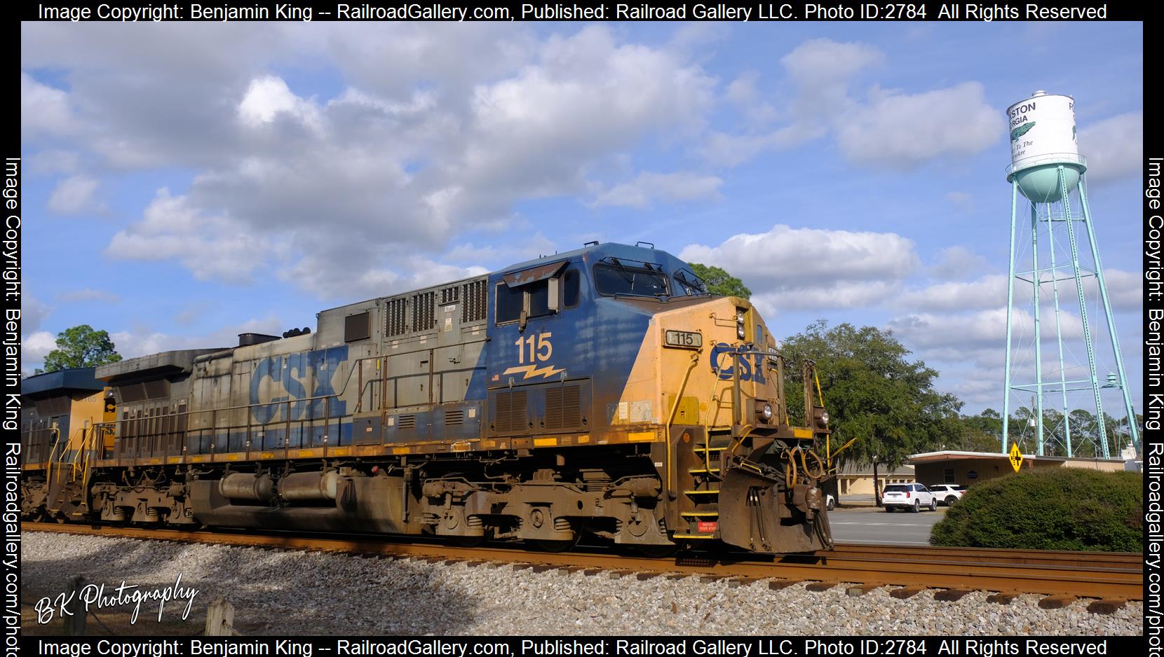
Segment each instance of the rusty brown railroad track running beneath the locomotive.
M484 545L462 548L407 538L346 535L311 536L290 533L233 533L132 527L27 522L28 531L55 531L119 538L148 538L190 543L318 550L385 557L450 562L501 562L538 570L574 569L591 574L633 576L646 579L663 574L702 576L738 583L769 580L772 588L809 581L810 588L850 585L860 594L880 586L897 587L890 594L907 598L925 590L941 590L939 598L957 600L970 591L996 592L995 601L1009 602L1018 593L1048 595L1041 606L1053 608L1076 598L1095 598L1091 610L1107 612L1127 600L1143 599L1143 560L1127 552L1057 552L984 548L917 548L838 544L835 550L803 555L712 555L681 552L677 557L650 558L610 551L573 550L533 552L518 548ZM1090 608L1091 608L1090 607Z

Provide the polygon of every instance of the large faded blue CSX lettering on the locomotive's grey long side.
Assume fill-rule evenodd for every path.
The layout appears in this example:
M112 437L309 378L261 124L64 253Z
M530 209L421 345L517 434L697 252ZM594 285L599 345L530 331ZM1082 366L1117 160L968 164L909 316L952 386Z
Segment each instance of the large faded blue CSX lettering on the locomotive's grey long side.
M255 421L265 424L272 420L303 420L304 413L311 407L308 419L321 420L325 416L336 417L345 415L347 402L335 399L327 399L327 410L324 410L322 399L306 400L305 397L321 398L335 394L332 386L332 377L339 370L340 363L348 359L348 348L333 347L318 351L305 351L303 354L288 354L286 356L271 356L263 358L255 366L250 374L250 408ZM310 380L307 370L314 371L315 385L311 394L307 394L305 381ZM276 384L283 384L279 390L270 384L263 385L264 379L271 379ZM285 392L285 395L269 397L277 392ZM261 394L265 393L265 394ZM298 399L286 404L289 399ZM283 415L285 412L285 415Z

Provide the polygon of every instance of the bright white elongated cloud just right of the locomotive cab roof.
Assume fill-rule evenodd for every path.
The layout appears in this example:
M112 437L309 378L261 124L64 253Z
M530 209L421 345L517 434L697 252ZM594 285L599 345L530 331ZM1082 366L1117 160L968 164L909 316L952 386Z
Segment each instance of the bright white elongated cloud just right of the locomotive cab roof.
M769 308L875 305L894 294L918 265L914 243L894 233L783 224L758 235L733 235L716 247L690 244L680 257L726 269Z

